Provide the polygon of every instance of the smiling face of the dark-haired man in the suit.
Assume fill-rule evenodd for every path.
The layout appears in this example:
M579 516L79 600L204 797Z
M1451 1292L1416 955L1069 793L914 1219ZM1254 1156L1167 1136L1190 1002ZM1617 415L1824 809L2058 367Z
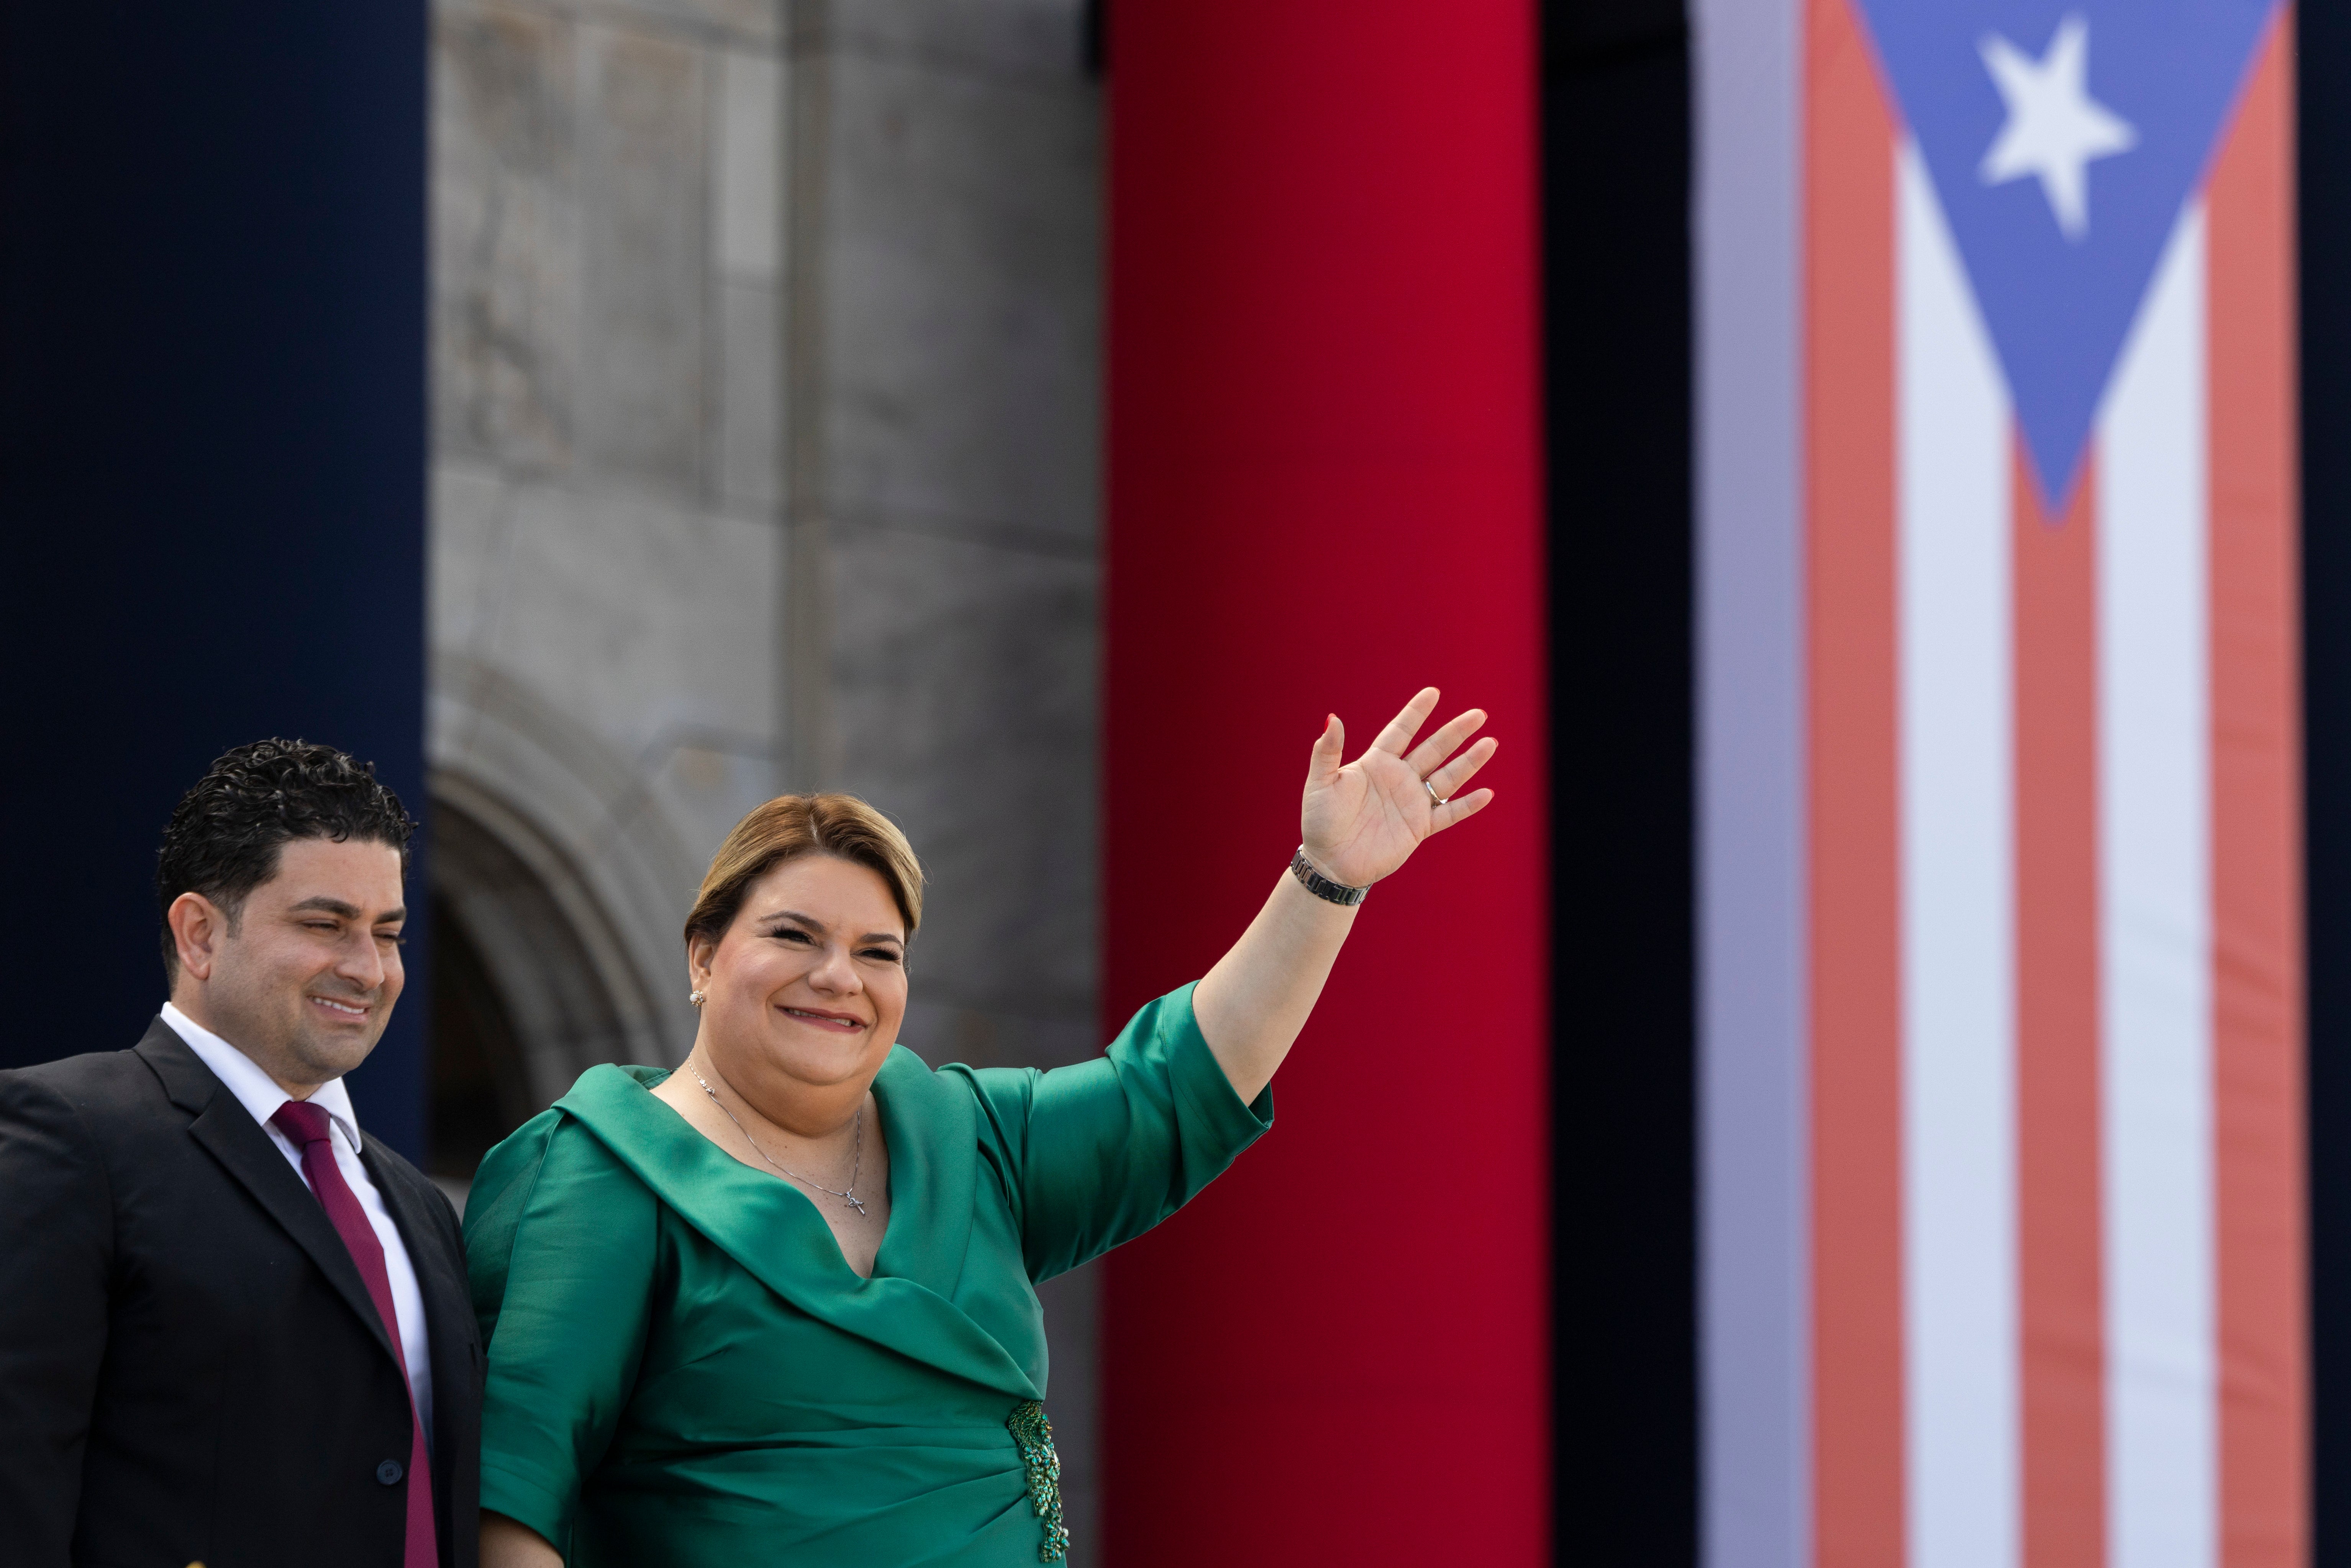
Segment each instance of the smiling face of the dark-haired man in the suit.
M390 844L294 839L235 922L202 893L181 893L169 922L172 1001L292 1095L364 1063L400 999L407 907Z

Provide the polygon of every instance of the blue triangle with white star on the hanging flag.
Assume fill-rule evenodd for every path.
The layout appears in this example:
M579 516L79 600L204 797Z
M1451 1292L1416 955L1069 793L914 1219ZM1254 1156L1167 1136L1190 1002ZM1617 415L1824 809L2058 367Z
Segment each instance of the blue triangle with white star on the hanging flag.
M2050 515L2278 0L1857 0Z

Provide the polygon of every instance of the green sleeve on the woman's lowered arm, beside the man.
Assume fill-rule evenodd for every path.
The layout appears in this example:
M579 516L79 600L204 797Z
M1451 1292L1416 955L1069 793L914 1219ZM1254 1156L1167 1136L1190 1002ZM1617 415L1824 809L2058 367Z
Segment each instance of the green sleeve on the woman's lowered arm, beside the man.
M581 1483L644 1359L661 1208L583 1126L538 1121L482 1161L465 1206L489 1345L482 1507L569 1554Z

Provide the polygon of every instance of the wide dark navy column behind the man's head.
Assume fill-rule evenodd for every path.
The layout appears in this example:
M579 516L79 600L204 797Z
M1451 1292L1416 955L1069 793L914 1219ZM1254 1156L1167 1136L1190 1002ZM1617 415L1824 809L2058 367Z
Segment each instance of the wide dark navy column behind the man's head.
M0 9L0 1065L136 1041L223 748L423 813L423 219L421 0ZM409 1154L423 1013L353 1079Z

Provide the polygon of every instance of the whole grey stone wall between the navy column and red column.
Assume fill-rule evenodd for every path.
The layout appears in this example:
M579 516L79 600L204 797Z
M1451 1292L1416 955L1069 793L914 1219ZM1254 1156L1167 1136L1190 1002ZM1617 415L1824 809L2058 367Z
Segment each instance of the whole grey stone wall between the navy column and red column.
M1100 1046L1079 31L1079 0L435 0L435 804L451 853L505 842L468 907L550 867L534 919L595 905L583 952L642 997L548 1060L684 1053L677 926L788 788L924 856L910 1046ZM1049 1314L1086 1542L1089 1276Z

